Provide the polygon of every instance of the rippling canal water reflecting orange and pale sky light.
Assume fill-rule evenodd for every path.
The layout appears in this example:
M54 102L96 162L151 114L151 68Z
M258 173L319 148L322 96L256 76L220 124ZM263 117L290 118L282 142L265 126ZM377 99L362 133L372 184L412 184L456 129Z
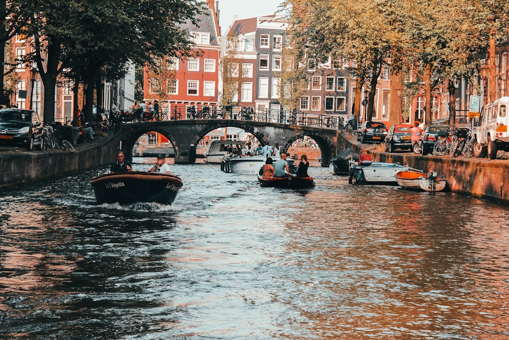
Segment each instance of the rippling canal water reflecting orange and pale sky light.
M0 338L509 338L506 206L172 170L172 206L97 205L107 167L3 192Z

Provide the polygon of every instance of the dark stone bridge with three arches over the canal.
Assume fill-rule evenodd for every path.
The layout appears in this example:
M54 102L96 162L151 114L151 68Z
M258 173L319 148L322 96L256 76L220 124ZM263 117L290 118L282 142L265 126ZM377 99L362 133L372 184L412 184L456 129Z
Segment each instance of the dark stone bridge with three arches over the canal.
M212 130L220 127L239 127L256 137L260 144L279 143L285 150L304 136L315 140L322 153L322 165L328 165L336 154L339 132L335 128L243 121L235 119L169 120L122 124L121 149L131 158L138 138L155 131L165 136L175 150L175 163L194 163L195 146Z

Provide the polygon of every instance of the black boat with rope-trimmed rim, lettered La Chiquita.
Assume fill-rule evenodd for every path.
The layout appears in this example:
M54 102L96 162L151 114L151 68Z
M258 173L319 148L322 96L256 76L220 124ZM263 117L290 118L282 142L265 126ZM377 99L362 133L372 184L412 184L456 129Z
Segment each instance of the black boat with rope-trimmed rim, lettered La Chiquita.
M90 184L99 204L156 202L166 205L173 203L183 185L176 175L143 171L108 173L93 178Z

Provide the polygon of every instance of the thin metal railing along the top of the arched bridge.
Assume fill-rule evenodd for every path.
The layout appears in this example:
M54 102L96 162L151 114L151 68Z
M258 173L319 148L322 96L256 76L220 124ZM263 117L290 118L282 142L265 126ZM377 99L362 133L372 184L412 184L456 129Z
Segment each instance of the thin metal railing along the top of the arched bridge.
M234 106L173 106L162 108L167 120L180 119L234 119L244 121L259 121L284 123L304 126L318 126L342 129L344 117L326 114L311 114L306 112L289 112L286 110L271 110L252 107Z

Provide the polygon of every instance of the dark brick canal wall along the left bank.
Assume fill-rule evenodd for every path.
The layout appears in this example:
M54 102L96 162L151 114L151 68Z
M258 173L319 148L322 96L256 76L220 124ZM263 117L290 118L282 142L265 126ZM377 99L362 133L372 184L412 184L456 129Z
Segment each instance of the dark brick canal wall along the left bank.
M82 143L76 151L13 150L0 153L0 188L111 164L120 147L120 134L96 143Z

